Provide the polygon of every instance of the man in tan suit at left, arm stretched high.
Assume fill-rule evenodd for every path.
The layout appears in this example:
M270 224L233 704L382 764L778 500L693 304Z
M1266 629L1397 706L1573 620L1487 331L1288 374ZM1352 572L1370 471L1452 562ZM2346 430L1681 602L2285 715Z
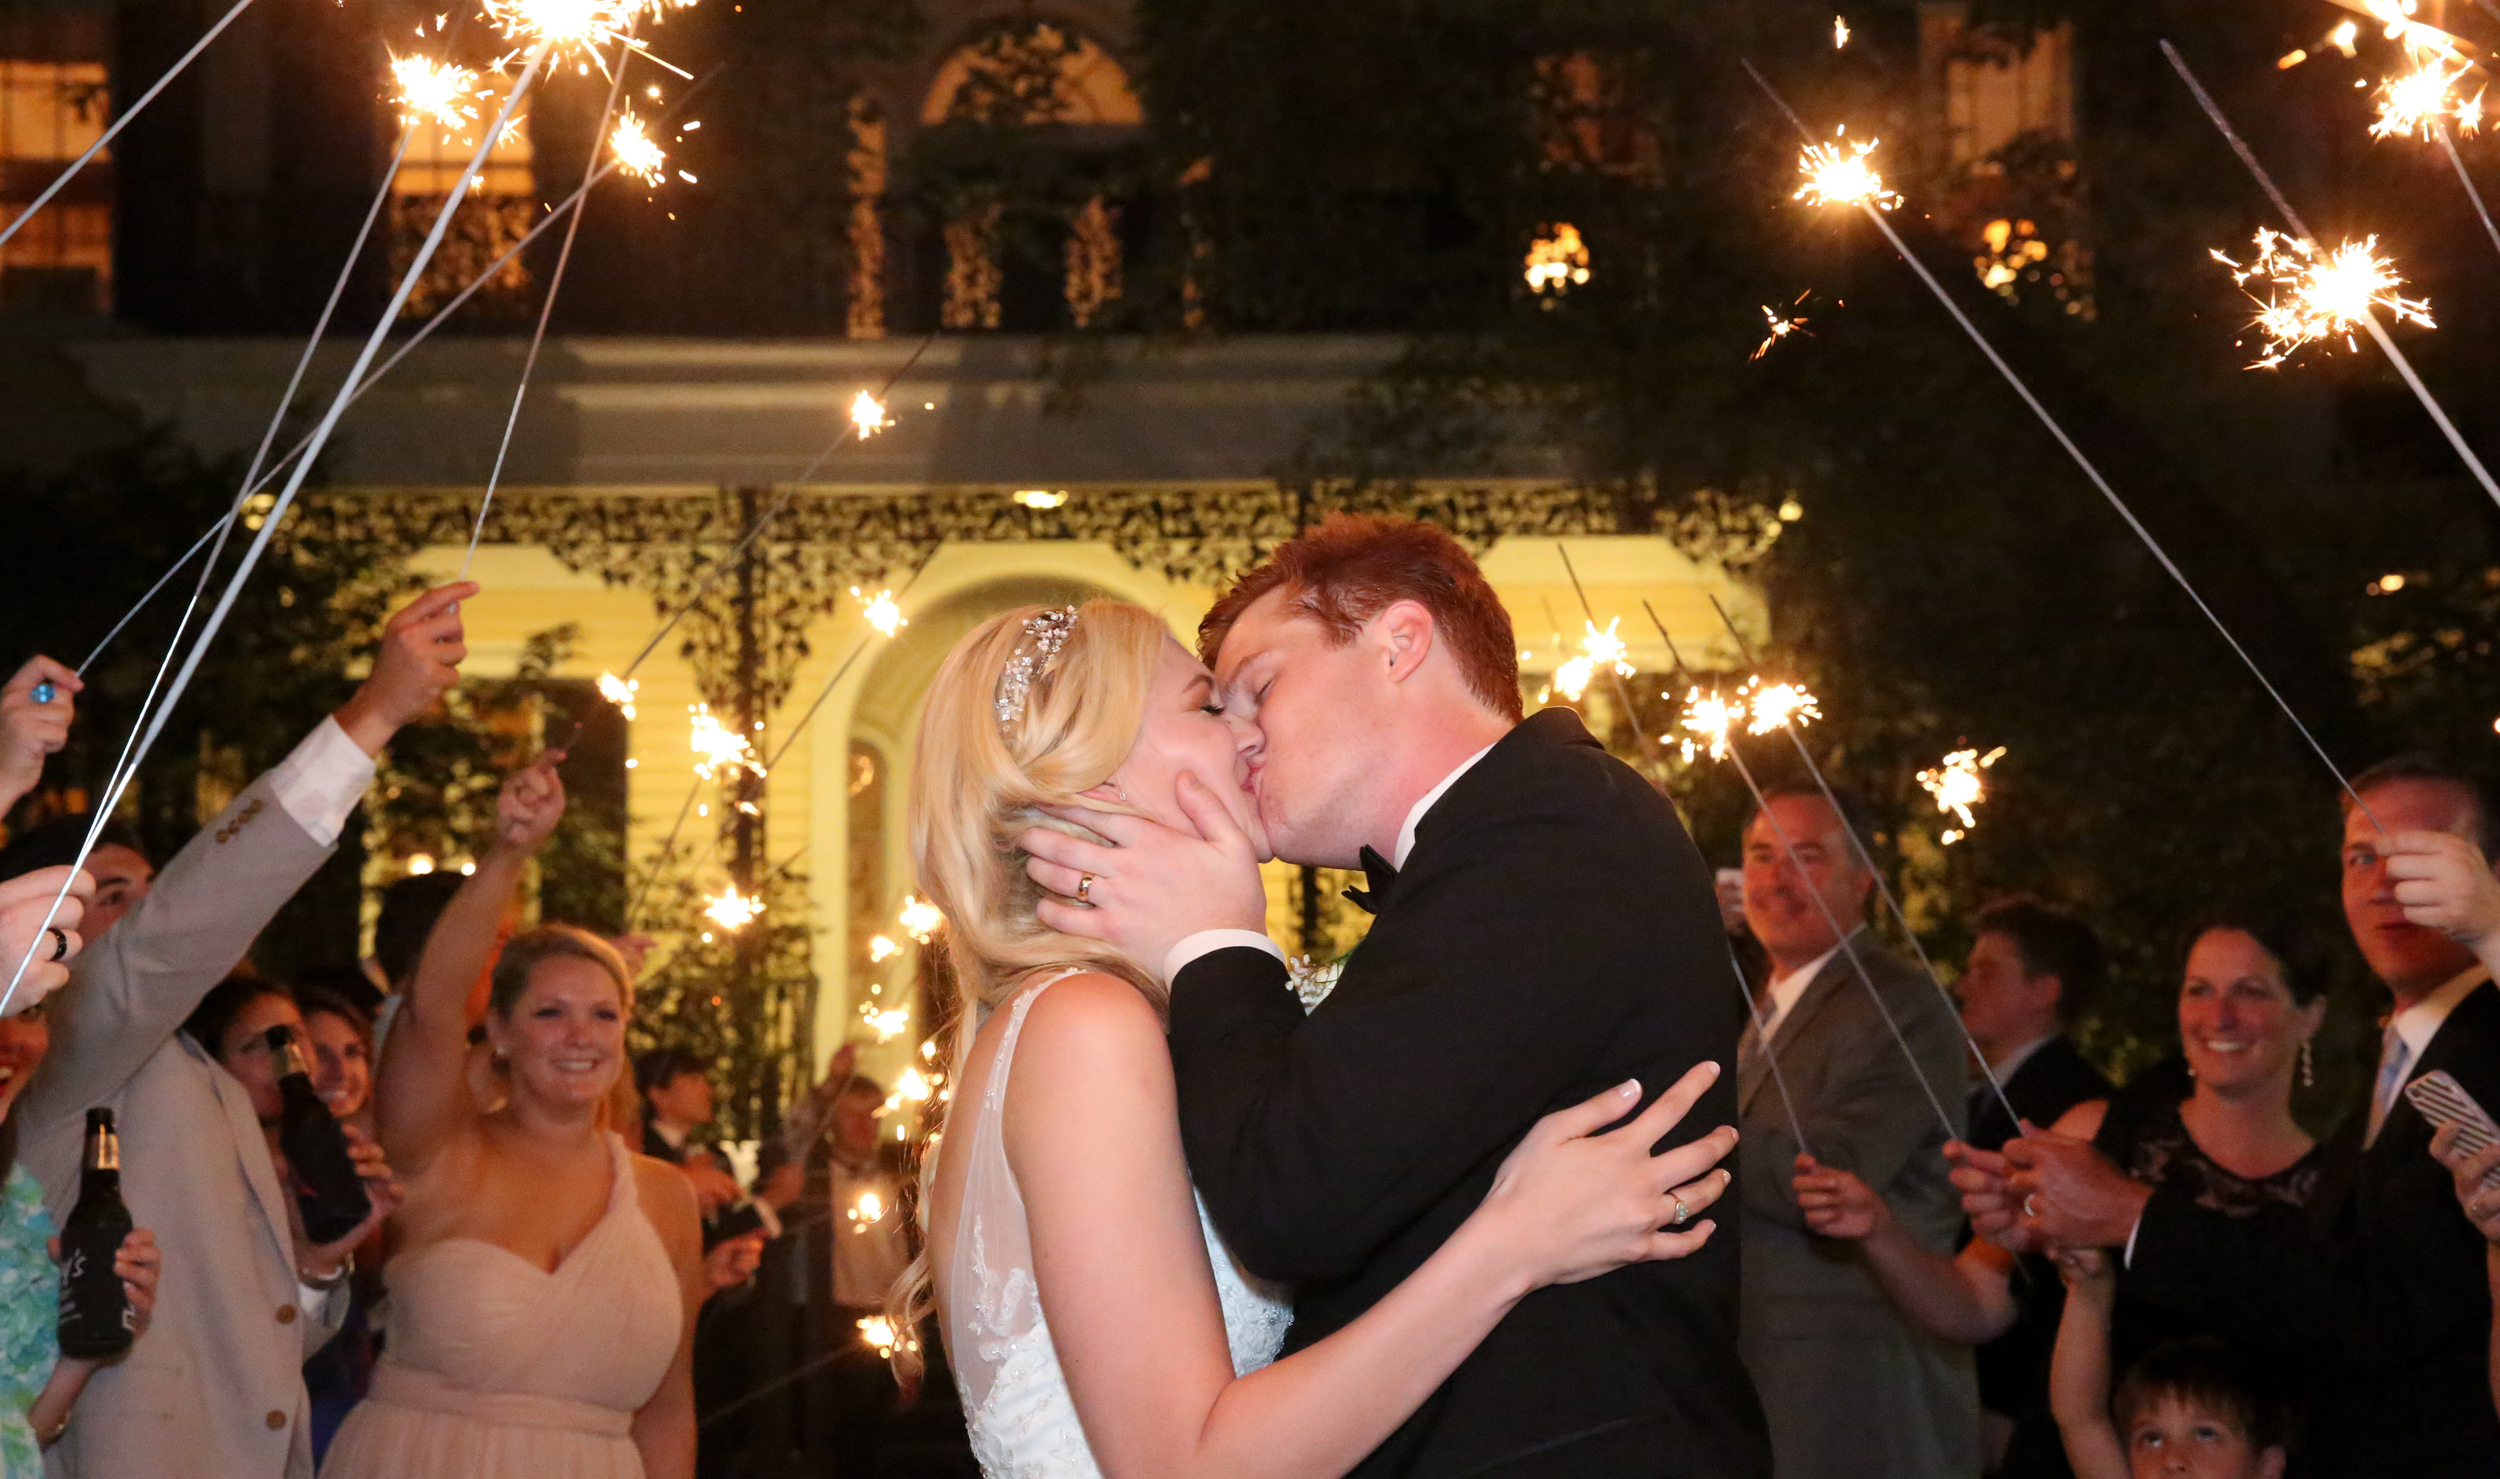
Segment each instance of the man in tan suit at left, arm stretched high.
M85 1114L110 1104L122 1197L155 1229L165 1277L148 1332L95 1374L50 1449L55 1477L312 1479L302 1362L345 1319L362 1229L302 1242L248 1089L178 1027L338 844L382 744L458 682L458 602L475 592L432 590L390 617L355 697L160 877L130 847L92 859L115 882L48 1004L52 1052L18 1102L20 1157L68 1217Z

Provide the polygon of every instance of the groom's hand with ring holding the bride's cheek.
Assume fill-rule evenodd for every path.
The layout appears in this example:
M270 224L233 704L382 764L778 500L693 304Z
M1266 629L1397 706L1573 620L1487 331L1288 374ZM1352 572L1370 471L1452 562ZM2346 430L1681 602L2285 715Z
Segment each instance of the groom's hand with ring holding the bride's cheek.
M1195 777L1180 777L1180 809L1195 832L1148 817L1115 817L1085 807L1050 807L1110 839L1110 847L1032 827L1015 839L1030 857L1025 874L1045 889L1042 924L1115 944L1140 967L1162 974L1175 944L1202 929L1268 927L1268 889L1258 852L1222 799Z

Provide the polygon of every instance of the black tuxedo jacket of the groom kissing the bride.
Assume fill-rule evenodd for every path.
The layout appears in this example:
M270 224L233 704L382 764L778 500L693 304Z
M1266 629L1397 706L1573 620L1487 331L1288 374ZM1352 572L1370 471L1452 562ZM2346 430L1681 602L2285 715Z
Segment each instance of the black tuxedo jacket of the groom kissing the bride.
M1710 869L1570 710L1478 759L1372 907L1308 1019L1260 949L1172 984L1190 1172L1232 1252L1295 1284L1288 1349L1412 1274L1538 1117L1710 1059L1725 1074L1670 1142L1735 1124L1745 997ZM1768 1477L1732 1217L1690 1259L1522 1299L1355 1474Z

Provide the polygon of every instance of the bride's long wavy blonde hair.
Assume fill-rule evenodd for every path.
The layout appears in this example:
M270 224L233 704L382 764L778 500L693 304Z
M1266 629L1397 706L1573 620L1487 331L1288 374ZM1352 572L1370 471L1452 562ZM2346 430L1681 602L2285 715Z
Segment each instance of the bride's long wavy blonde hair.
M1040 807L1128 809L1085 792L1108 782L1138 744L1172 635L1145 607L1090 600L1058 652L1045 657L1040 632L1028 630L1045 615L1050 607L1018 607L975 627L948 652L920 712L908 834L912 877L948 919L948 957L960 987L960 1009L948 1024L955 1084L962 1084L972 1034L1035 972L1098 969L1135 984L1158 1009L1165 1002L1165 987L1130 957L1040 922L1042 889L1025 877L1028 854L1015 839L1030 827L1090 837ZM1008 667L1020 657L1030 660L1030 687L1002 720ZM925 1229L925 1194L920 1207ZM932 1309L922 1252L885 1299L895 1372L905 1382L922 1364L918 1332Z

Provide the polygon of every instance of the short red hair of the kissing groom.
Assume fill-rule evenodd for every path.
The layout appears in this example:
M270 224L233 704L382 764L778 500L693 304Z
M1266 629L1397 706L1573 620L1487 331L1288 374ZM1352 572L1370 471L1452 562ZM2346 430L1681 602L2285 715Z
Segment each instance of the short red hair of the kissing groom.
M1338 647L1395 602L1422 605L1450 645L1468 692L1495 715L1520 717L1520 647L1510 637L1510 612L1475 557L1448 532L1422 520L1328 515L1318 530L1278 545L1198 622L1198 655L1208 667L1232 622L1270 590L1282 590Z

